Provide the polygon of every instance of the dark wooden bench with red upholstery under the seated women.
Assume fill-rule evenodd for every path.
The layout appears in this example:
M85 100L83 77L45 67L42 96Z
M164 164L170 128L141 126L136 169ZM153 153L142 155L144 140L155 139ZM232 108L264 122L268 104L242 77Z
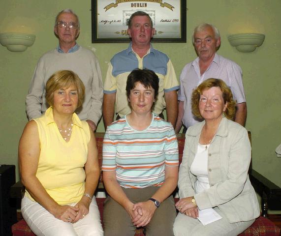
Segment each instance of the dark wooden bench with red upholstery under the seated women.
M100 166L101 166L101 162L102 162L103 136L104 136L104 133L95 133L96 144L97 144L97 148L98 148L98 161L99 161ZM250 137L250 132L249 132L249 137ZM182 157L183 157L183 150L184 150L184 146L185 146L185 135L178 134L177 138L178 138L178 143L179 143L179 159L181 162ZM251 176L251 173L253 174L253 176ZM259 185L259 187L260 187L259 191L265 192L266 195L265 195L265 199L263 199L263 201L265 201L265 200L268 201L271 198L273 198L273 196L275 196L274 193L276 193L276 192L281 193L280 188L278 186L270 185L269 187L266 187L264 185L264 184L266 184L266 182L262 181L265 179L259 179L259 176L256 175L255 171L252 170L249 174L250 174L251 181L254 179L254 181L256 181L257 185ZM269 181L269 180L267 179L267 181ZM253 184L253 186L255 187L254 184ZM264 186L264 187L261 187L261 186ZM273 190L270 187L275 187L276 189ZM279 190L278 190L278 188L279 188ZM97 191L105 191L103 182L102 182L102 175L100 175L100 178L99 178ZM21 182L17 182L15 185L13 185L11 187L11 190L10 190L11 198L16 198L18 200L18 202L20 202L23 195L24 195L24 186L21 184ZM105 198L96 198L96 202L97 202L97 205L98 205L98 208L100 211L101 220L102 220L104 200L105 200ZM177 200L178 199L175 199L175 201L177 201ZM268 207L270 205L266 202L266 206ZM267 215L267 207L263 208L263 212L264 212L265 216ZM14 224L12 226L12 233L13 233L13 236L35 236L31 232L31 229L28 227L28 225L24 219L20 220L19 222L17 222L16 224ZM144 236L143 230L137 229L135 236ZM260 216L259 218L257 218L255 220L255 222L246 231L244 231L239 236L280 236L280 229L277 226L275 226L275 224L273 222L271 222L269 219L267 219L263 216Z

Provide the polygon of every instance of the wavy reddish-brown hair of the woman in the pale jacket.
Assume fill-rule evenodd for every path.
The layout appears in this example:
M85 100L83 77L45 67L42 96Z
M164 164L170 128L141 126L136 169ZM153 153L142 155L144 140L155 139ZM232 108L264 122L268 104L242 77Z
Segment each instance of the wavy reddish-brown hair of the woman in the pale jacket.
M219 89L221 90L224 104L227 102L227 108L224 112L224 115L226 118L232 119L235 115L236 105L236 102L233 100L232 92L223 80L213 78L203 81L196 89L193 90L191 95L193 115L195 117L202 118L199 112L200 94L202 94L204 90L211 89L213 87L219 87Z

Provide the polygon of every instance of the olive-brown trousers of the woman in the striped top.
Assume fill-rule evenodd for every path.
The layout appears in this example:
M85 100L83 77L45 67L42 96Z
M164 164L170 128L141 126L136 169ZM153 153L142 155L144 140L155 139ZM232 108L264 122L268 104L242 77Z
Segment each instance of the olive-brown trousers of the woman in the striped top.
M158 187L122 188L132 203L147 201ZM156 209L150 223L145 227L146 236L173 236L176 208L173 196L164 200ZM126 210L107 197L103 208L104 236L134 236L136 227Z

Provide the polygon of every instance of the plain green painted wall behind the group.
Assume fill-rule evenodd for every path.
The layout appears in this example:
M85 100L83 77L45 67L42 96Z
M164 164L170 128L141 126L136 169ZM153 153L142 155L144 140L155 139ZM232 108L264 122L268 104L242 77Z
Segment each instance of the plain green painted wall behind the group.
M17 165L18 141L27 122L25 97L33 70L39 57L57 46L54 19L64 8L72 8L80 17L78 43L94 51L103 77L111 57L127 47L91 43L90 0L1 1L0 32L17 28L36 34L34 45L26 52L11 53L0 46L1 164ZM274 152L281 143L281 1L188 0L187 8L187 43L156 43L154 47L172 59L179 77L184 65L196 57L191 43L192 29L202 22L219 28L222 41L219 54L236 61L243 69L248 105L246 128L252 132L252 166L281 186L281 158ZM239 53L230 46L227 36L247 31L264 33L265 41L253 53ZM104 131L102 122L97 131Z

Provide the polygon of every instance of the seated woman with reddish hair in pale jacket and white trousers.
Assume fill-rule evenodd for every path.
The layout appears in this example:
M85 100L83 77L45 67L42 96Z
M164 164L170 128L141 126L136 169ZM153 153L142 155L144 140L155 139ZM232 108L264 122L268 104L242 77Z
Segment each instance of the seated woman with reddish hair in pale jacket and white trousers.
M237 236L260 214L248 176L248 132L231 120L235 101L222 80L208 79L193 91L192 112L204 121L187 130L174 235ZM203 225L197 217L207 208L222 218Z

